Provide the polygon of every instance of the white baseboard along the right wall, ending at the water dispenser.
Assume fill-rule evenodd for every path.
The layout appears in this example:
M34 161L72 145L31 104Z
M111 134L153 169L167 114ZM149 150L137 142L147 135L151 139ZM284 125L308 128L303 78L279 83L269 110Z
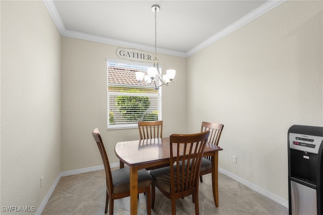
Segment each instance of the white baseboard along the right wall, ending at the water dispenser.
M280 196L277 196L271 192L268 192L267 190L264 190L264 189L254 185L254 184L252 184L252 183L250 183L250 182L248 182L248 181L246 181L246 180L244 180L244 179L242 179L242 178L240 178L240 177L238 177L238 176L236 176L236 175L234 175L222 168L219 168L219 172L288 208L288 200L286 200Z

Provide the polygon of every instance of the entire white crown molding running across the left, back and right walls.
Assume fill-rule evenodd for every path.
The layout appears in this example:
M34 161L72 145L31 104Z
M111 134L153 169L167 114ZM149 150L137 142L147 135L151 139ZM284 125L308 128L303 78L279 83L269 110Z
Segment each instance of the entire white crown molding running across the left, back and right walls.
M266 3L261 5L260 7L256 8L255 10L251 11L238 21L232 23L219 33L211 36L210 38L206 39L205 41L201 42L194 48L190 49L187 52L182 52L182 51L175 51L175 50L170 50L170 49L165 49L165 48L157 48L158 53L164 53L166 55L172 55L172 56L178 56L178 57L183 57L187 58L193 55L194 53L198 52L199 50L205 48L206 46L218 41L222 37L225 37L226 35L230 34L231 32L237 30L238 28L244 26L245 24L251 22L252 20L258 18L259 16L263 15L264 13L276 8L277 6L281 5L284 3L286 0L268 0ZM53 2L53 0L43 0L49 15L51 16L53 22L56 24L60 34L62 36L67 36L67 37L73 37L73 38L78 38L78 39L84 39L84 40L89 40L89 41L94 41L94 42L101 42L101 43L106 43L106 44L112 44L112 45L118 45L118 46L124 46L124 47L132 47L132 48L137 48L137 49L142 49L146 51L154 51L154 46L150 45L144 45L144 44L139 44L139 43L134 43L134 42L128 42L124 40L118 40L118 39L112 39L108 37L102 37L102 36L97 36L93 34L87 34L87 33L82 33L78 31L71 31L65 28L64 23L61 19L61 16Z

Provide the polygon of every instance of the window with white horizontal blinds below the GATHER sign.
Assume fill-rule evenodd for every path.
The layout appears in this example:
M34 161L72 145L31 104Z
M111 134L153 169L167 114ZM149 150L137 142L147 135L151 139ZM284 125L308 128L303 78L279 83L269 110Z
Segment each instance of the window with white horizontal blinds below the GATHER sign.
M161 91L138 83L136 72L151 65L107 59L107 128L136 128L138 121L161 119Z

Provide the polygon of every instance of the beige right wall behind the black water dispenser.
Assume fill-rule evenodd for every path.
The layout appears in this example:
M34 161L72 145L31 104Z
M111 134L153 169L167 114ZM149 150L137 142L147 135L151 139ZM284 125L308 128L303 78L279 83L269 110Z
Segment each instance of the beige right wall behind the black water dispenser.
M188 131L223 123L220 168L286 200L288 129L323 126L322 4L285 2L188 58Z

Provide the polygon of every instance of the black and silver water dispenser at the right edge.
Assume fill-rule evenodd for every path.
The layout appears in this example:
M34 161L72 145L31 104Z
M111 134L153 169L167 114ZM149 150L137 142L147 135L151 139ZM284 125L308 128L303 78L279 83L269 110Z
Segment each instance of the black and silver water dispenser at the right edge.
M293 125L288 130L290 215L323 213L322 142L323 127Z

